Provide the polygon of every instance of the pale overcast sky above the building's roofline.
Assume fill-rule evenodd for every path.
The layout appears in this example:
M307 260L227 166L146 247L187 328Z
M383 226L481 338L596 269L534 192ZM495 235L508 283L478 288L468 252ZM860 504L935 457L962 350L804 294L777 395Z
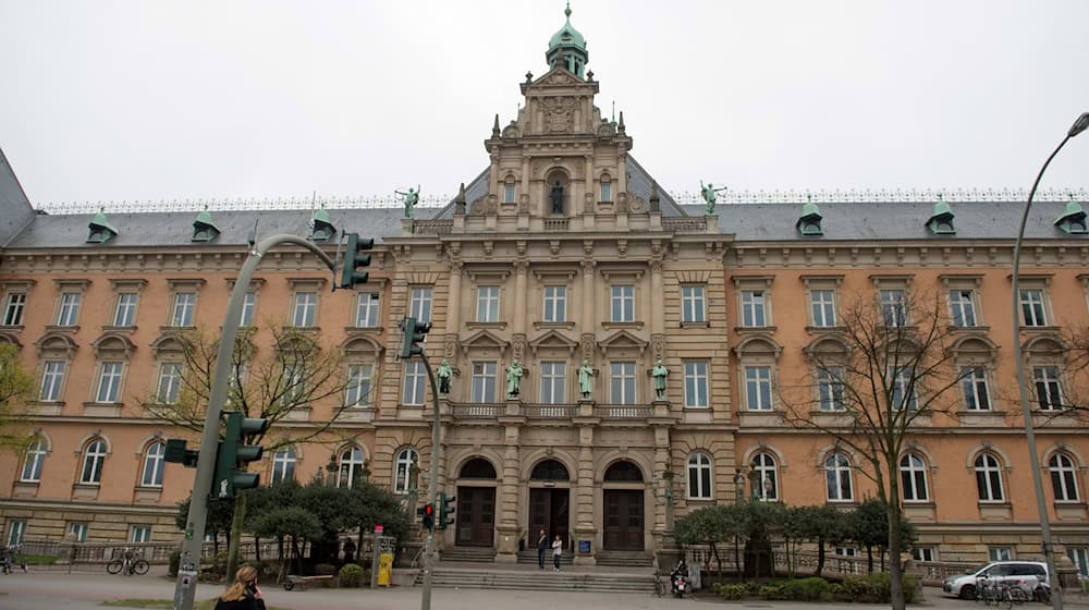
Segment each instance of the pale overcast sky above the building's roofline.
M453 194L561 0L0 0L0 147L36 205ZM1086 0L575 0L670 191L1016 187L1089 111ZM1044 186L1089 186L1089 134Z

